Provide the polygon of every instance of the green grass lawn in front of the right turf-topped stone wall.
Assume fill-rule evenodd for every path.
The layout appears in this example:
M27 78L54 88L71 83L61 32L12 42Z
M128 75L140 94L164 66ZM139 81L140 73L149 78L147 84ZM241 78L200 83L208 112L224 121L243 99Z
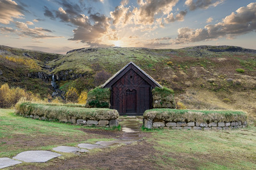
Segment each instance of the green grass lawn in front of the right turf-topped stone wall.
M256 169L255 127L228 131L159 130L149 139L159 166L170 169Z

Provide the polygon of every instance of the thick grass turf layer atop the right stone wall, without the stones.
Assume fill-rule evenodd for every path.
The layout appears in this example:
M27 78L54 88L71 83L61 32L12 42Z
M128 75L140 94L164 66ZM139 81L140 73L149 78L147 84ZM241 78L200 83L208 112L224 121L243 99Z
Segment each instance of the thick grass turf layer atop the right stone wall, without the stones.
M246 121L246 113L241 111L197 111L178 109L150 109L144 112L145 119L166 122L232 122Z

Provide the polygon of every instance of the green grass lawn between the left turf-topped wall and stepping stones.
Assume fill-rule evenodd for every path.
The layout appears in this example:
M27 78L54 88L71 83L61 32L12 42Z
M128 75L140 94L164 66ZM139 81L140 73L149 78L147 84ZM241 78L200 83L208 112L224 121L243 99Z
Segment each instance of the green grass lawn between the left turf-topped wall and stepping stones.
M11 158L27 150L51 150L60 145L76 146L88 139L101 138L85 133L80 128L85 127L24 118L16 116L13 109L0 109L0 158Z

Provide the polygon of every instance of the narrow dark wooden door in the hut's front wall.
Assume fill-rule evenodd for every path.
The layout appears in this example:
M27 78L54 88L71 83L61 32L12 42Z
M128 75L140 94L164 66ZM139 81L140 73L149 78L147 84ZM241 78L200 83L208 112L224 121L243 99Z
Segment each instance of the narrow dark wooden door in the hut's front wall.
M126 113L137 113L137 93L136 90L126 90Z

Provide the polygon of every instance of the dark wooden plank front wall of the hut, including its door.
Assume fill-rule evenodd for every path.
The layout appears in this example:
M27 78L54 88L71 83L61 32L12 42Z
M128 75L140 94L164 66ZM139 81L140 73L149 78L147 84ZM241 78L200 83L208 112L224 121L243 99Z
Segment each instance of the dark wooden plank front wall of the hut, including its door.
M139 115L151 108L152 86L133 67L112 85L111 105L120 114Z

